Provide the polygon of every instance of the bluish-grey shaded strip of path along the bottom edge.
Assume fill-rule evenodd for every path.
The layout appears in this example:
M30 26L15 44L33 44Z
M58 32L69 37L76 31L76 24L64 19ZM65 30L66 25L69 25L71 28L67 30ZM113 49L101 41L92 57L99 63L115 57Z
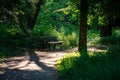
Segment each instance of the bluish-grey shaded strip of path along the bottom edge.
M56 80L56 73L44 70L6 69L0 74L0 80L48 80L48 78Z

